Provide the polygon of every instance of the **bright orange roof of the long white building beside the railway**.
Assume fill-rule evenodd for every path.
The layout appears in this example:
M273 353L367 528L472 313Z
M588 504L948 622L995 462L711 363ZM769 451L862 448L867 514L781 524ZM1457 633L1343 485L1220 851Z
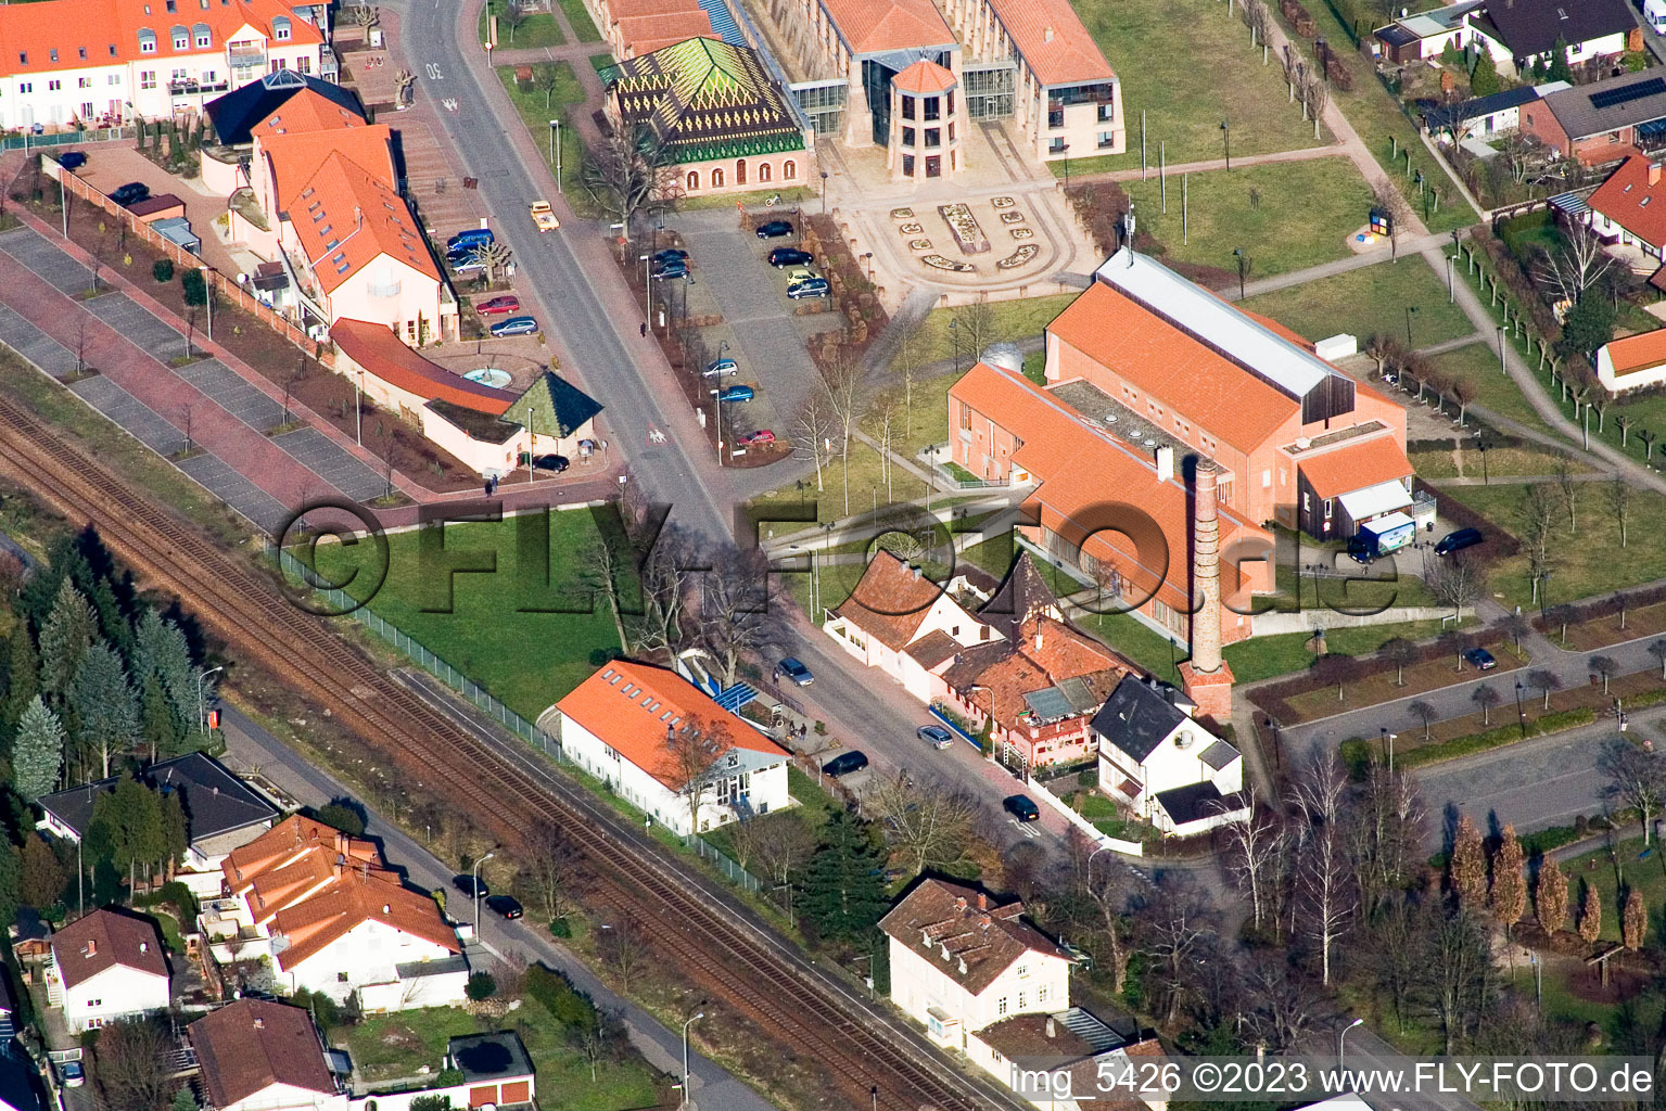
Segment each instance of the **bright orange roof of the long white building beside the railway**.
M788 756L683 676L630 660L615 660L593 673L556 708L673 791L686 780L666 748L668 730L696 730L711 743L713 758L731 748Z

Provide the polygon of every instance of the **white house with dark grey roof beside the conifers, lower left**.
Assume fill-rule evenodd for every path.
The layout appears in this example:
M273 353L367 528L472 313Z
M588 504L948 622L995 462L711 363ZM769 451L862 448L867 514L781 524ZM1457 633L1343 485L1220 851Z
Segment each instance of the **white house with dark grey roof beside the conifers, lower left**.
M178 861L177 878L197 896L218 894L227 853L258 838L278 816L272 800L203 753L163 760L133 778L158 795L178 795L190 846ZM110 778L43 795L38 828L65 841L80 841L92 825L93 805L112 795L117 783L118 778Z

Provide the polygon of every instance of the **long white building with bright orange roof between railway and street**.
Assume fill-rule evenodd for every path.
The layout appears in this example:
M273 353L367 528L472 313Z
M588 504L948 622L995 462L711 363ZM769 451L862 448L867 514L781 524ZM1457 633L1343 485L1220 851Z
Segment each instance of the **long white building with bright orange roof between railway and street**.
M793 801L786 750L665 668L615 660L555 710L566 758L680 836Z

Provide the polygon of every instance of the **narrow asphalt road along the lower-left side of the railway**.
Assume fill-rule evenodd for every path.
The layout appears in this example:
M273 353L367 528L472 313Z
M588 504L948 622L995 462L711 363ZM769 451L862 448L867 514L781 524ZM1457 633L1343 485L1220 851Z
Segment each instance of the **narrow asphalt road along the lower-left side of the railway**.
M227 738L227 763L232 768L258 768L262 775L288 791L297 801L307 806L318 806L343 795L352 795L345 786L285 748L275 736L257 723L238 713L232 706L222 710L222 723ZM426 848L402 830L388 823L382 815L367 808L370 821L365 831L382 843L383 856L393 868L402 868L407 879L420 889L446 888L458 903L466 903L451 888L453 873ZM453 906L453 914L468 919L466 906ZM651 1014L615 994L606 984L571 953L555 944L530 918L505 921L491 911L481 908L480 941L498 959L513 954L521 961L541 961L566 974L573 984L585 991L605 1011L620 1016L630 1034L631 1044L641 1051L653 1068L673 1076L683 1069L683 1043L678 1031L666 1029ZM690 1053L690 1091L703 1108L735 1108L740 1111L773 1111L775 1104L763 1099L725 1069Z

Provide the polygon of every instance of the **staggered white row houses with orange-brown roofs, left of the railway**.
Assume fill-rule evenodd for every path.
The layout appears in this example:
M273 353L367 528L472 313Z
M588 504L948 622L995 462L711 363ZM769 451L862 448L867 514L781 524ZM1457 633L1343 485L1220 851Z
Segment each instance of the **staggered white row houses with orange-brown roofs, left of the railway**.
M468 964L426 893L403 886L377 846L292 815L225 859L225 886L198 924L220 961L273 961L288 991L367 1011L450 1006Z

